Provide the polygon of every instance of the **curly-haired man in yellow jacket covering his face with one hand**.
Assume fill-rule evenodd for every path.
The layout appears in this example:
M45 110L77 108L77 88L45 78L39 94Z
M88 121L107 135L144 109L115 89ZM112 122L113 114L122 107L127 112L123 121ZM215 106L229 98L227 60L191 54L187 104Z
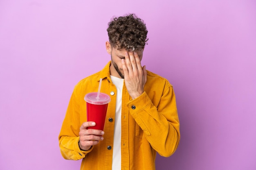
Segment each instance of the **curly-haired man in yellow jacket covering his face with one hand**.
M81 170L155 170L156 152L171 156L180 142L172 85L141 66L147 29L134 14L108 24L111 61L74 88L59 135L65 159L83 159ZM104 131L87 129L85 94L109 94Z

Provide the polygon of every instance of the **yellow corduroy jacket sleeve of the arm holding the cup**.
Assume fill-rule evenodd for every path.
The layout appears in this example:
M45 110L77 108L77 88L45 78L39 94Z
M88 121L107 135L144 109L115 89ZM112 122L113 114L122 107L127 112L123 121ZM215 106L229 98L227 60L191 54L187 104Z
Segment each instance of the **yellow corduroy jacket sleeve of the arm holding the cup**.
M83 151L79 148L79 131L80 131L80 119L79 119L79 97L76 95L79 92L74 92L71 96L67 112L61 127L61 132L58 136L59 146L61 149L61 155L65 159L79 160L85 157L90 150Z

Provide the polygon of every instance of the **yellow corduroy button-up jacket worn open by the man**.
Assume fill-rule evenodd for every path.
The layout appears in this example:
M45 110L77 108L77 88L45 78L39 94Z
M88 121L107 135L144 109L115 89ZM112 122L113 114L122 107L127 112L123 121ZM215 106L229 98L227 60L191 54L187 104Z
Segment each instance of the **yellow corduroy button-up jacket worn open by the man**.
M109 62L103 70L81 80L74 88L59 134L59 146L65 159L83 159L81 170L111 170L114 142L115 105L117 89L110 79ZM85 94L109 94L103 141L83 151L79 149L79 129L86 122ZM144 93L132 100L123 87L121 110L121 169L155 170L156 152L171 156L180 142L180 123L172 85L161 76L147 71ZM110 93L112 92L112 93ZM114 92L114 93L113 93ZM133 107L132 107L133 106ZM134 107L135 106L135 107Z

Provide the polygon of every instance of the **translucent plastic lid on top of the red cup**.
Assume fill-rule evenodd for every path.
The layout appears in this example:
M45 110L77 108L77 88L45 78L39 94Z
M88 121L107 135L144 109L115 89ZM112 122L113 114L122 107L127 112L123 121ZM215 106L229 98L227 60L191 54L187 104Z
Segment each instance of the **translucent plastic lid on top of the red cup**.
M99 93L97 98L97 92L91 92L85 95L84 100L94 105L105 105L110 102L110 96L105 93Z

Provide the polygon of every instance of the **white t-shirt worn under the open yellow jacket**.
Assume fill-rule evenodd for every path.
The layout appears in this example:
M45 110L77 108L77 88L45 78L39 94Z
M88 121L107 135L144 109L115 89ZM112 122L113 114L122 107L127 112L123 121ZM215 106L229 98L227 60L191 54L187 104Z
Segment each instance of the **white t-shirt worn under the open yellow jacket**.
M111 75L110 78L117 88L112 170L121 170L121 109L124 79Z

